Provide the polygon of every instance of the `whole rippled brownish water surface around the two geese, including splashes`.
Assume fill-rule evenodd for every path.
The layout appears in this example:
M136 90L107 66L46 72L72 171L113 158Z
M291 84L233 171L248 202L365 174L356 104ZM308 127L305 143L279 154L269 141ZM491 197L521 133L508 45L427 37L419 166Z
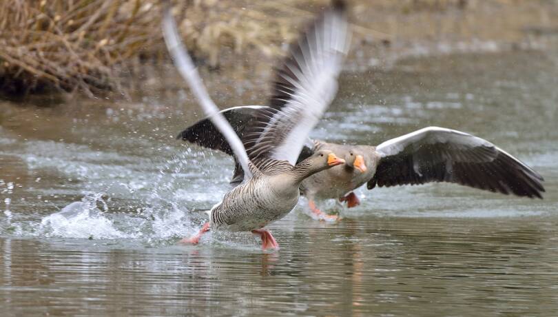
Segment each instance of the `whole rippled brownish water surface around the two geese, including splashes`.
M249 234L176 244L232 174L224 155L174 140L198 119L189 99L0 103L2 314L555 314L557 87L550 52L344 74L313 136L378 144L428 125L464 130L539 171L544 200L447 184L361 189L362 205L335 225L312 221L302 200L270 226L273 253Z

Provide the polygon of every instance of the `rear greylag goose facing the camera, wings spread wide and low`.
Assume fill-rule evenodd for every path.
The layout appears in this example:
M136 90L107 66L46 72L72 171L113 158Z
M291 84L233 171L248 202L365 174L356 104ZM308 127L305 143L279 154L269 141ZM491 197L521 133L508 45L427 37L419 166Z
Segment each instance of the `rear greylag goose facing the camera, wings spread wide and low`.
M265 106L235 107L223 110L235 132L242 137L245 125L254 120L256 109ZM207 119L178 134L177 139L231 154L223 136ZM542 198L544 178L504 150L477 136L443 127L423 129L370 145L339 145L314 141L307 143L298 160L318 150L331 150L346 163L304 179L300 190L307 196L312 212L322 220L336 220L322 213L316 199L338 198L348 207L360 201L353 190L367 183L376 185L415 185L448 182L490 192ZM242 167L236 164L233 183L242 181Z

